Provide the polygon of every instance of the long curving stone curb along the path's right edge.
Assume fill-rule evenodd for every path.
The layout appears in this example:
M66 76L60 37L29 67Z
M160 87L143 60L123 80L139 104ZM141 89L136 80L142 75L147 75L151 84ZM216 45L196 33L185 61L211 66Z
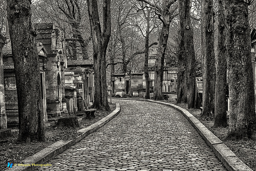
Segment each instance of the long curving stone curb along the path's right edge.
M222 164L229 171L253 171L244 162L242 162L218 137L211 133L207 127L205 127L195 116L190 114L187 110L177 106L175 104L170 104L161 101L147 100L147 99L125 99L125 98L113 98L119 100L138 100L138 101L148 101L158 104L164 104L170 106L177 111L181 112L195 127L197 132L203 137L205 142L214 151L215 155L220 159Z

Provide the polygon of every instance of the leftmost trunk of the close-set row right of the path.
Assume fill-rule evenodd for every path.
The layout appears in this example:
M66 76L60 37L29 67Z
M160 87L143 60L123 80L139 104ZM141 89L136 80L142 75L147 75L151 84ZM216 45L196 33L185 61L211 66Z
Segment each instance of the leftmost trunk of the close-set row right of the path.
M178 1L180 14L180 43L178 69L178 99L186 101L188 109L197 108L196 55L193 40L193 28L190 20L190 1Z

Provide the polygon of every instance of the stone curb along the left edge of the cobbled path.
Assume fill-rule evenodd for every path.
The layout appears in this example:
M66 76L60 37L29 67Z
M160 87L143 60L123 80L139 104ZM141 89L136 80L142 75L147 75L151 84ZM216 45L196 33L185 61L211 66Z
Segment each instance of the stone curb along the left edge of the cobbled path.
M6 170L9 171L31 171L39 167L40 164L44 164L45 162L52 159L54 156L62 153L70 146L74 145L75 143L79 142L81 139L86 137L87 135L97 131L100 127L104 124L108 123L112 118L120 113L120 105L116 103L116 109L109 114L108 116L102 118L101 120L95 122L94 124L85 127L77 132L80 133L76 139L70 141L63 141L59 140L48 147L42 149L40 152L34 154L33 156L29 156L28 158L24 159L21 163L26 166L13 166L12 168L8 168ZM33 164L33 165L31 165ZM34 165L35 164L35 165ZM38 165L39 164L39 165Z

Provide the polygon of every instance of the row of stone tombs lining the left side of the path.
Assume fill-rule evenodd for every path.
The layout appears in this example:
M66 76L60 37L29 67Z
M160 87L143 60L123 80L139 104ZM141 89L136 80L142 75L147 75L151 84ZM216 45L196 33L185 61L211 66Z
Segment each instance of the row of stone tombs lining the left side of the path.
M83 112L94 100L93 61L67 60L64 34L54 24L34 24L40 66L44 122L63 113ZM8 127L18 123L18 99L10 39L2 50Z

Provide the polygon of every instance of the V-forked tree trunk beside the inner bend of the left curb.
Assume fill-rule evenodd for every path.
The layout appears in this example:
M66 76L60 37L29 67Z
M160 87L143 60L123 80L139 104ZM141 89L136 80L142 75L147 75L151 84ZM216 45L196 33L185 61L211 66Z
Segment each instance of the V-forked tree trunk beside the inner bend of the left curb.
M94 87L95 98L94 108L110 111L108 96L106 93L106 62L105 55L111 33L110 0L103 1L103 30L101 31L96 0L87 0L90 26L93 39L93 59L94 59Z

